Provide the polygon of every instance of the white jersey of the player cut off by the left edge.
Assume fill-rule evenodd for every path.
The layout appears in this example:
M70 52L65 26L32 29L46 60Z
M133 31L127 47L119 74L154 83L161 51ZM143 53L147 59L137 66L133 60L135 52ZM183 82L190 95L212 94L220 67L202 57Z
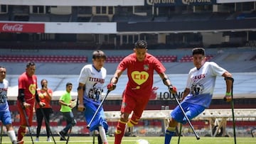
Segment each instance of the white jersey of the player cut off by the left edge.
M0 111L9 111L9 105L7 102L7 89L9 82L4 79L3 82L0 82Z

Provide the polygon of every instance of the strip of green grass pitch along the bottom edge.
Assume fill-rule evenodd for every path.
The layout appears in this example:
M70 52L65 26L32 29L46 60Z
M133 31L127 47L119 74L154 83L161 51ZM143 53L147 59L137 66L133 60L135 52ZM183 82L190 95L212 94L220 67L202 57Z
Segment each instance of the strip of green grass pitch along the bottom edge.
M60 137L55 136L55 142L58 144L65 144L66 141L60 141ZM36 137L33 137L35 140ZM93 137L90 136L72 136L70 137L69 144L92 144ZM108 137L110 144L114 143L114 137ZM136 140L145 139L148 140L150 144L164 144L164 137L124 137L122 140L122 144L134 144ZM24 137L25 144L32 143L31 138L29 136ZM256 138L251 137L238 137L236 138L237 144L255 144ZM2 143L11 143L9 137L3 136ZM39 137L39 142L35 142L35 144L50 144L54 143L47 142L45 136ZM173 137L171 140L171 144L178 143L178 137ZM234 144L233 137L201 137L200 140L196 140L196 137L181 137L180 144L216 144L216 143L224 143L224 144ZM95 144L97 144L97 137L95 137Z

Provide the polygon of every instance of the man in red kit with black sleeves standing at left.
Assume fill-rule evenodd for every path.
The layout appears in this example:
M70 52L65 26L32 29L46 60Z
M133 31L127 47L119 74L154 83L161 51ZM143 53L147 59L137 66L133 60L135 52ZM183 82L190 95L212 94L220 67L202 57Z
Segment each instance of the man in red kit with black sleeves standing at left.
M18 128L18 143L23 143L23 137L26 133L26 126L32 125L33 111L35 99L41 106L43 103L39 100L37 89L37 77L35 75L36 64L28 62L26 65L26 72L18 77L18 113L20 113L20 126ZM24 113L24 111L26 113ZM26 114L26 115L25 115ZM26 122L28 117L28 123Z

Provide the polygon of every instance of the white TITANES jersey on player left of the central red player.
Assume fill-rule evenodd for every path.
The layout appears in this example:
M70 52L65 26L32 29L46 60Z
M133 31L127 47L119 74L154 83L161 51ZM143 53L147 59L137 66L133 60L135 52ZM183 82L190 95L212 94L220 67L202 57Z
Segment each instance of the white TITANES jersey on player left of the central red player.
M103 92L103 84L107 77L107 70L102 67L100 71L96 70L93 65L82 67L78 82L85 84L84 103L91 101L98 104Z

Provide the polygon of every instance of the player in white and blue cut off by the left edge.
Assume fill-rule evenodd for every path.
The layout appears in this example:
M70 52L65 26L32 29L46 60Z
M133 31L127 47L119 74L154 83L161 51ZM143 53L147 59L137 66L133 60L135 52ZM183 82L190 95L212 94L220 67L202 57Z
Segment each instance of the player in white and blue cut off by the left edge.
M11 142L17 143L16 135L11 122L11 112L9 110L9 104L7 101L7 89L9 87L9 82L5 78L6 68L0 66L0 119L4 126L6 126L7 135L9 135Z

